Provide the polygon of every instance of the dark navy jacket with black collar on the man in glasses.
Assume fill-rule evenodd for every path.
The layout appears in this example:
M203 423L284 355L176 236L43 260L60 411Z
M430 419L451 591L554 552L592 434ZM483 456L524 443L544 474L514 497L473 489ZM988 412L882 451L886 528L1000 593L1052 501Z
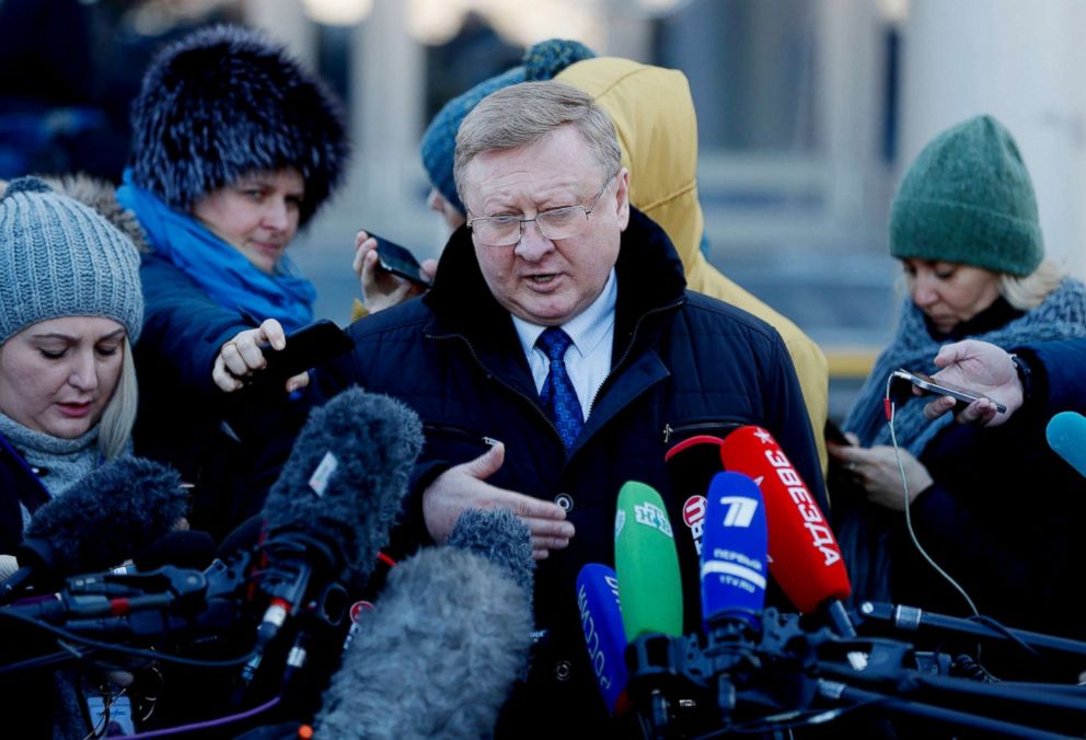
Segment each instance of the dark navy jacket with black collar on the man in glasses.
M682 500L671 494L665 452L696 433L744 424L767 428L825 506L799 384L777 333L762 321L685 291L682 265L660 228L632 211L616 265L613 368L574 448L566 453L544 413L512 321L492 297L471 238L447 245L421 300L356 322L355 352L325 375L404 400L424 423L426 446L405 511L411 545L426 542L421 489L472 460L487 439L506 446L488 483L565 502L577 530L535 571L536 646L528 686L507 707L511 736L613 731L587 660L575 594L586 563L614 563L619 488L647 483L662 495L686 579L688 623L700 620L697 563ZM401 543L402 544L402 543ZM576 719L575 719L576 718ZM506 729L504 727L504 729ZM604 736L599 736L604 737Z

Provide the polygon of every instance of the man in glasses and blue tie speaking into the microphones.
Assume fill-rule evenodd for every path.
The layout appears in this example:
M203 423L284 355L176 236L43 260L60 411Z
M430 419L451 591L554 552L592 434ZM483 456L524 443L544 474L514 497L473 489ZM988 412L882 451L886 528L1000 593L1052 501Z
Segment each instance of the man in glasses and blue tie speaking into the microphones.
M469 507L507 507L531 528L539 637L500 732L613 732L575 580L587 563L614 563L620 487L661 494L696 585L695 532L666 451L760 425L824 507L810 423L777 333L685 291L667 235L629 206L614 128L590 96L557 82L494 93L460 128L455 172L469 221L435 287L354 324L340 382L403 398L423 418L412 545L442 542ZM696 624L696 588L685 610Z

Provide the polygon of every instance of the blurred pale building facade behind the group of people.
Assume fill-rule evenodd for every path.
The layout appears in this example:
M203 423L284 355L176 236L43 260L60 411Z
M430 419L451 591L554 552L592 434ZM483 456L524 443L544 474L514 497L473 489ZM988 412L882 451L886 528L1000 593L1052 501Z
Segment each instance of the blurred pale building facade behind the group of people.
M0 18L18 2L0 0ZM357 291L355 231L420 256L444 241L425 207L418 139L428 117L553 36L686 73L709 258L827 349L843 389L834 415L901 300L886 244L897 180L944 128L980 113L1007 125L1033 176L1049 256L1086 277L1081 0L80 2L118 19L112 36L95 28L106 69L143 66L171 27L241 19L288 43L344 96L350 176L294 248L317 282L319 312L340 322Z

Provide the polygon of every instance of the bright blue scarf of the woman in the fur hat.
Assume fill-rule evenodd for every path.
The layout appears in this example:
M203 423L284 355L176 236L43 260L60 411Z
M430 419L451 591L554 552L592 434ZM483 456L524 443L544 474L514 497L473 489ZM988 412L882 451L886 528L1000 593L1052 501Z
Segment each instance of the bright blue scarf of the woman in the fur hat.
M316 290L286 255L268 275L199 221L136 185L131 170L125 170L117 201L136 213L154 253L184 271L219 305L247 312L258 321L276 319L288 334L312 323Z

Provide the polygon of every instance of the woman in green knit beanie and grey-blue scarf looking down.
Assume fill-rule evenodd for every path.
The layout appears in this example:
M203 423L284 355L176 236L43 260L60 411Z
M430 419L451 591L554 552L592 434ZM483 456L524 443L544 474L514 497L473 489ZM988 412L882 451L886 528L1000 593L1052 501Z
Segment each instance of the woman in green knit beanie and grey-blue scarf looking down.
M964 609L957 594L941 602L933 596L943 581L915 559L903 529L909 509L921 544L964 581L978 608L1020 622L1012 603L1023 603L1023 592L1008 588L1015 580L1009 574L1020 574L1043 547L1018 552L1023 539L1010 534L1020 523L1017 509L1004 504L1039 489L1062 472L1055 470L1060 463L1031 449L1043 440L978 433L951 425L949 415L927 419L925 400L912 396L908 384L903 393L890 386L897 403L891 437L883 397L899 368L935 372L944 344L974 338L1013 347L1086 335L1086 287L1044 261L1029 173L1014 138L992 116L944 131L916 158L893 200L890 254L901 261L909 297L892 342L845 420L856 446L831 449L859 492L851 501L856 507L839 518L842 539L855 550L848 562L856 596L908 594L929 608ZM1027 465L1026 455L1035 453ZM1008 541L996 543L1001 537ZM998 567L1002 557L1010 557L1008 569Z

